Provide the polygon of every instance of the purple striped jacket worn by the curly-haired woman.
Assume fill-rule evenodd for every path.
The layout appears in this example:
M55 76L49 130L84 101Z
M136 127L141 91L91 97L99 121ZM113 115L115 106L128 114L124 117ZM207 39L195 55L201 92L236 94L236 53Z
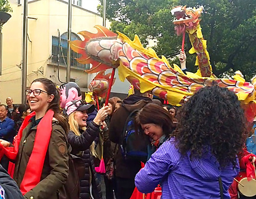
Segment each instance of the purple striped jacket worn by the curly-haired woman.
M224 199L230 198L228 188L238 175L239 165L219 169L219 162L211 153L200 160L182 156L174 145L175 138L163 145L137 173L135 185L142 193L150 193L161 182L161 199L220 198L219 176L223 182ZM237 160L238 162L238 160Z

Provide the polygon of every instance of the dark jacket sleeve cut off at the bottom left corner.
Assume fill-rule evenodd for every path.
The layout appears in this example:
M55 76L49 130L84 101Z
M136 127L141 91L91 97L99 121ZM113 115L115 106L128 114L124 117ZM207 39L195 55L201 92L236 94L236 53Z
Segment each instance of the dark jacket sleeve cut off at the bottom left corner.
M4 189L6 199L23 199L17 183L8 175L2 165L0 165L0 186Z

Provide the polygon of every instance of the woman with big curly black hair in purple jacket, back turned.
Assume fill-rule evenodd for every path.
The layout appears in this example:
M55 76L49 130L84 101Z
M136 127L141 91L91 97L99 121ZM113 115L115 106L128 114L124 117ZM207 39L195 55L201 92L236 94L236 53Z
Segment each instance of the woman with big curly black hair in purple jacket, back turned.
M161 182L165 198L230 198L245 142L237 96L218 86L201 88L179 111L174 137L165 141L135 178L140 192Z

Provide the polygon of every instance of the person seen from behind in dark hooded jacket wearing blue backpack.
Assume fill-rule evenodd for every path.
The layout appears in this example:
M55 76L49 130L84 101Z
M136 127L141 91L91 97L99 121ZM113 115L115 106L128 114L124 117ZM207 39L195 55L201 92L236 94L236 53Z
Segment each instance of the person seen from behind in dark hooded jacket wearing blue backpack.
M122 154L121 145L124 142L124 129L126 120L135 110L140 110L147 103L152 102L149 93L140 93L135 89L135 94L124 99L123 105L114 112L109 127L110 141L119 144L115 159L116 198L129 199L135 188L135 175L140 171L141 161L127 160Z

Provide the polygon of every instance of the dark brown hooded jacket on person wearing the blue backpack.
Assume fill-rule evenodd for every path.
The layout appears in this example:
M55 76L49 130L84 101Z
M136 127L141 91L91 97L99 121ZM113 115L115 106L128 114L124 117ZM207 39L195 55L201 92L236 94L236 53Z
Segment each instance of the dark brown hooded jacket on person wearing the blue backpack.
M124 105L114 112L111 118L109 138L112 142L120 144L122 142L125 122L130 113L134 110L141 109L147 103L152 102L149 97L137 96L135 94L127 97L124 100ZM140 171L140 161L125 161L121 153L121 148L115 155L116 173L117 177L134 179L137 172Z

